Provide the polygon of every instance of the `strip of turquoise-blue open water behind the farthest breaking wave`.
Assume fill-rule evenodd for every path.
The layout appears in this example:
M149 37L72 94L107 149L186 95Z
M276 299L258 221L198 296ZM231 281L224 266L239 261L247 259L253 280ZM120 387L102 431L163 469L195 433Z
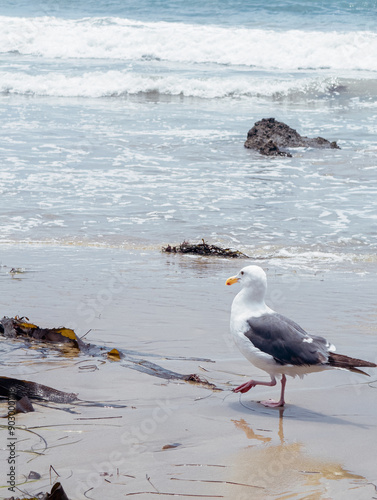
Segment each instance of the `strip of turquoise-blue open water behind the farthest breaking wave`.
M344 0L273 0L271 2L242 0L3 0L1 10L7 16L121 17L139 21L192 22L230 26L264 26L274 29L365 29L376 26L375 0L350 2Z

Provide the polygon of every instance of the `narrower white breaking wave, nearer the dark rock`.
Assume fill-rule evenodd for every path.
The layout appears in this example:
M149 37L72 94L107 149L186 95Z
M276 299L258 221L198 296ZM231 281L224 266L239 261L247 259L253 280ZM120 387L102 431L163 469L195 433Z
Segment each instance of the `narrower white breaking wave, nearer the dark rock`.
M70 76L62 72L38 75L0 71L0 92L54 97L122 97L139 93L184 95L199 98L223 97L318 97L331 95L341 83L335 77L286 78L184 77L148 75L130 70L86 72Z

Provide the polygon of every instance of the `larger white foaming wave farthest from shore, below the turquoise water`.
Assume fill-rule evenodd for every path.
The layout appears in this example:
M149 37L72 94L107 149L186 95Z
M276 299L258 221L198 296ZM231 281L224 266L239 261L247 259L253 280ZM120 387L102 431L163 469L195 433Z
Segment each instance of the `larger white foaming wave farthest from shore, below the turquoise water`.
M2 52L45 58L377 71L377 34L143 23L121 18L0 17Z

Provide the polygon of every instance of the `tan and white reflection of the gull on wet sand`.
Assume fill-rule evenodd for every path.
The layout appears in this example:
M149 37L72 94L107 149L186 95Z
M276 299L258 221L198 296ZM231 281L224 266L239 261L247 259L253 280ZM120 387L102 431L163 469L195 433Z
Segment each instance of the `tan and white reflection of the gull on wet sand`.
M339 463L311 457L300 442L288 442L284 410L279 408L275 429L254 428L244 418L232 420L248 440L248 446L236 456L232 481L253 485L255 499L298 498L303 492L308 494L305 498L321 499L330 498L326 496L330 492L370 487L365 477Z

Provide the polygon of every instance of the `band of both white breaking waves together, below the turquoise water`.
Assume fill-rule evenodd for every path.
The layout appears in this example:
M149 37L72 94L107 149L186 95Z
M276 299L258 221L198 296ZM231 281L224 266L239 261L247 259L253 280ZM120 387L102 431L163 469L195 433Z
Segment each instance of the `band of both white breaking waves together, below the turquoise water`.
M377 78L368 31L0 16L0 47L0 92L21 95L352 97Z

